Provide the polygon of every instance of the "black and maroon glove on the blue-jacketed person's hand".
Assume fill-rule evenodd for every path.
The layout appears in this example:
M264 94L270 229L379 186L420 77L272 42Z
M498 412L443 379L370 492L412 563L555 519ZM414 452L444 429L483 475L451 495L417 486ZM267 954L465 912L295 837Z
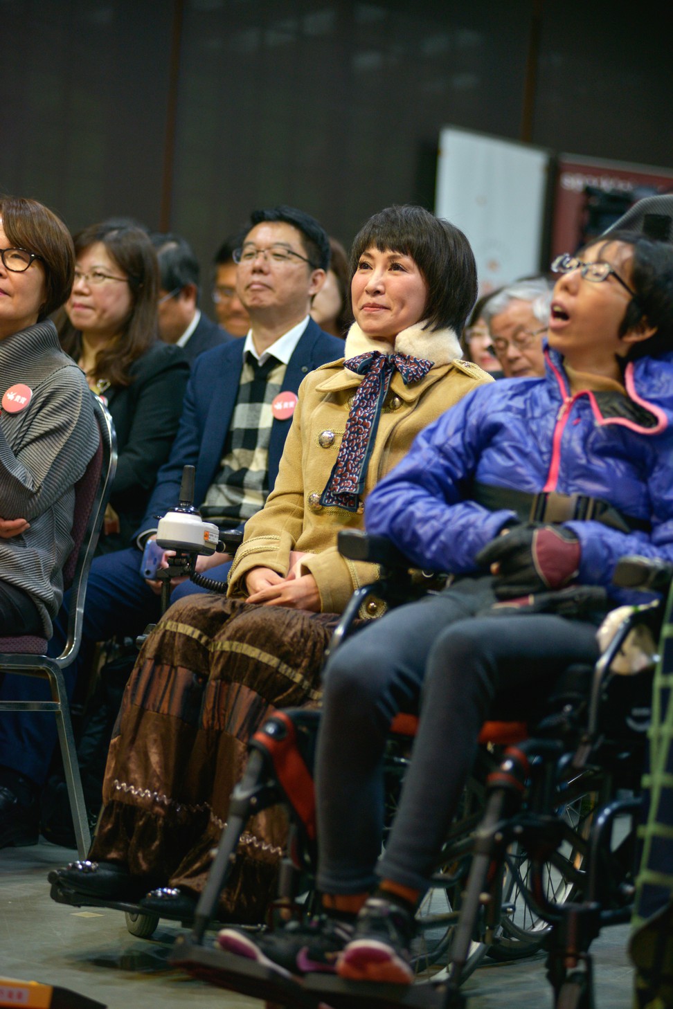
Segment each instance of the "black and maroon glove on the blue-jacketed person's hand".
M581 547L564 526L520 526L487 543L477 564L497 565L493 591L498 599L518 599L568 585L579 570Z

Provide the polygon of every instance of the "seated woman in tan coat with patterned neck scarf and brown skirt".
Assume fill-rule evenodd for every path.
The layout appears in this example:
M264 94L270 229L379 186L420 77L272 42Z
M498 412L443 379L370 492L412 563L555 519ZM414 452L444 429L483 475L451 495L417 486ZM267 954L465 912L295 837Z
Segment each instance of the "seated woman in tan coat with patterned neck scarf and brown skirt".
M110 749L92 861L60 870L63 888L134 899L163 884L143 909L190 915L250 735L274 707L319 702L338 615L377 576L338 554L339 530L362 526L368 492L424 427L490 380L460 359L476 296L462 232L420 207L388 208L356 236L351 267L356 322L345 357L302 383L274 489L246 523L228 598L176 603L143 646ZM261 919L285 836L277 809L250 821L220 900L226 919Z

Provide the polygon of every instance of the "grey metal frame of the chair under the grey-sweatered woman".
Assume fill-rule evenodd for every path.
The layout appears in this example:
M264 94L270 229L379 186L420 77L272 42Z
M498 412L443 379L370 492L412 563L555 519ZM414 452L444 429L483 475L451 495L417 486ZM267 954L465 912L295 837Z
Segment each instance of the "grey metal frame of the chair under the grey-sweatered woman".
M78 553L75 572L70 587L72 605L68 621L68 638L63 652L57 658L35 655L28 652L35 638L26 636L26 652L0 653L0 670L21 676L36 676L48 681L50 700L0 700L0 711L52 711L57 719L59 743L64 762L68 796L70 799L77 850L80 858L85 858L91 847L91 832L87 807L82 789L80 767L77 759L73 721L64 678L67 669L78 656L82 644L82 625L87 592L89 569L94 559L98 539L103 526L112 481L117 468L117 440L112 418L98 397L93 396L94 414L100 431L100 448L89 466L100 464L98 487L90 509L86 530ZM77 547L75 548L77 549ZM8 639L5 639L5 641ZM0 646L2 645L0 639Z

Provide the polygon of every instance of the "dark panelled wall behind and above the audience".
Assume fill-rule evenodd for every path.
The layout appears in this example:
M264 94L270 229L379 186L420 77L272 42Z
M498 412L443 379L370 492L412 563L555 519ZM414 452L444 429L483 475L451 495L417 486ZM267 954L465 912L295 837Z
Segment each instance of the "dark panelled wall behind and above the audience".
M257 206L346 245L392 202L434 205L454 125L673 166L654 4L568 0L0 0L0 191L73 230L173 229L204 266Z

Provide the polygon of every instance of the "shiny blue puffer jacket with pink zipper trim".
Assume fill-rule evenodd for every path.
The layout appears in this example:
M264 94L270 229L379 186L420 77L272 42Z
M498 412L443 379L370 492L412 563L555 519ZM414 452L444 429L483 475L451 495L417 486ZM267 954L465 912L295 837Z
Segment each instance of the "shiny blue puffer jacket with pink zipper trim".
M621 533L568 522L581 543L583 584L610 588L626 554L673 561L673 354L629 363L627 396L572 396L560 355L548 349L546 360L545 377L476 388L421 432L367 498L367 532L386 536L421 567L475 572L476 554L514 518L471 500L478 482L588 494L651 523L650 532Z

